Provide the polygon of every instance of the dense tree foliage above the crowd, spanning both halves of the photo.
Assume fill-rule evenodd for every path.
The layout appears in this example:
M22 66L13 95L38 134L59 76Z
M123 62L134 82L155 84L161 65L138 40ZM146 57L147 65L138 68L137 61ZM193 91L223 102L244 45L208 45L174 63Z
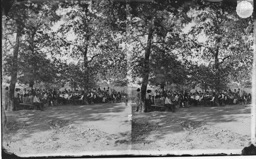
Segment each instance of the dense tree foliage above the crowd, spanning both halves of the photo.
M252 21L205 1L17 1L3 16L3 79L89 89L97 81L248 86ZM132 79L130 81L130 79ZM185 87L183 87L185 88Z

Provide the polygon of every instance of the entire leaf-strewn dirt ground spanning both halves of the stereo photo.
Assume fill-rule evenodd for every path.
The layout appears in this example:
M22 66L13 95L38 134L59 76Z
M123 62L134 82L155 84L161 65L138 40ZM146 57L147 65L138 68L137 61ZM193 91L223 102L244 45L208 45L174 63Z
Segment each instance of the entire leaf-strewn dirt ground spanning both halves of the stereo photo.
M24 157L241 154L250 141L250 105L188 107L175 113L134 109L135 103L117 103L9 111L2 146Z

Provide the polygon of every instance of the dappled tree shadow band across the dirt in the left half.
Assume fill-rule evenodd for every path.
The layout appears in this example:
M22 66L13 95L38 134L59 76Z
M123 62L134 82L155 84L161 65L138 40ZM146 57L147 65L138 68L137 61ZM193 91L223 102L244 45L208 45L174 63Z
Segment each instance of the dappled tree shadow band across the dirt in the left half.
M24 140L38 132L58 130L72 123L108 121L110 118L118 116L120 116L119 118L126 119L126 114L123 116L120 115L120 112L124 111L124 109L125 103L106 103L94 105L58 105L45 107L45 111L7 111L7 128L4 130L4 133L22 131L23 136L20 140Z

